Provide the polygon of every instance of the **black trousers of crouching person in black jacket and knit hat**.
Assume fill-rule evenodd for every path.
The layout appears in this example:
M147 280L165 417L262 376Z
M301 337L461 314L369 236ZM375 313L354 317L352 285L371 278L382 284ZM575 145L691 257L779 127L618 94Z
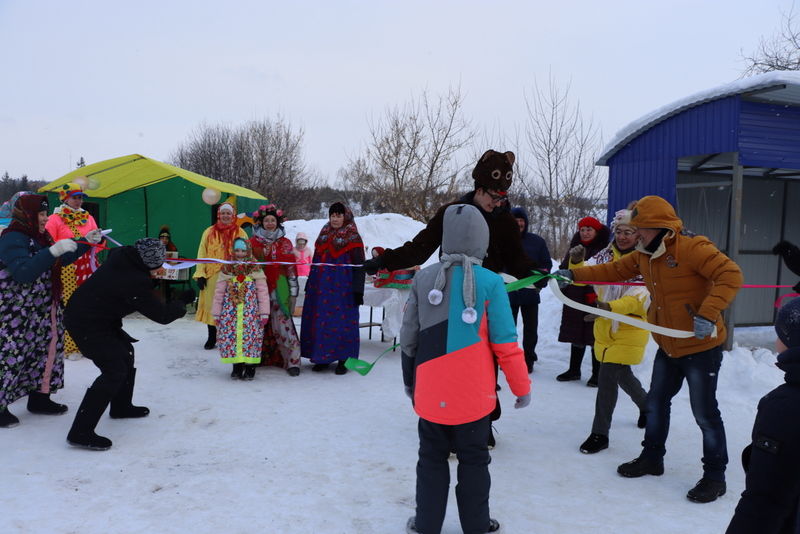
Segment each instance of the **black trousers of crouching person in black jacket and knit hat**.
M69 328L68 331L81 354L100 369L92 388L102 391L110 402L133 369L133 344L123 337L124 332Z

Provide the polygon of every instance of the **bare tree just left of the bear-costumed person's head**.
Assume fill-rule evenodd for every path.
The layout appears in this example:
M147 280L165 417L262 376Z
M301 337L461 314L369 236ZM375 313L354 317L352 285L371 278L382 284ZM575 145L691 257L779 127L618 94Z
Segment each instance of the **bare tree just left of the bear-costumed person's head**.
M428 220L460 187L458 156L473 137L462 106L460 89L450 89L387 109L370 124L365 152L340 171L344 189L370 193L382 211Z

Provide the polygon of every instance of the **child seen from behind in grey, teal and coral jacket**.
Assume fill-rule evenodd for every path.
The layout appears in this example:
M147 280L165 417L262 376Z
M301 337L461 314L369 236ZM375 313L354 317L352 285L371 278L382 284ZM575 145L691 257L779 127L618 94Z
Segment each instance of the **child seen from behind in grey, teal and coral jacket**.
M495 358L517 408L530 403L530 379L502 278L480 266L489 246L484 217L475 206L461 204L449 206L442 222L440 263L414 278L400 332L405 391L420 416L417 508L407 531L441 531L447 459L454 450L461 528L494 532L499 523L489 517L486 442L496 398Z

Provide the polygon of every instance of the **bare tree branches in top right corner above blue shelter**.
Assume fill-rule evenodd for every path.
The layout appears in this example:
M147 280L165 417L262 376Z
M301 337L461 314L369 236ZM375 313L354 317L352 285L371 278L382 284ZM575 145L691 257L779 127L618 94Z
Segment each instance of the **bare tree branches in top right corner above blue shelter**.
M794 6L788 13L782 13L778 32L769 39L762 37L756 51L742 53L742 59L746 64L743 76L775 70L800 70L800 28L795 22Z

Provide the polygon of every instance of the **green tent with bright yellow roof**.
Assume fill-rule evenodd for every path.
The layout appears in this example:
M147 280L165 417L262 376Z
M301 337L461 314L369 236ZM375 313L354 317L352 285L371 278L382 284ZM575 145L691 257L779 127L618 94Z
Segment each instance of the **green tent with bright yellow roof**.
M89 183L84 205L110 237L132 245L140 237L158 237L168 225L172 241L184 258L197 254L200 236L214 220L215 206L203 201L207 188L221 193L221 201L236 197L236 211L251 213L266 200L255 191L226 184L139 154L79 167L41 187L51 206L59 204L59 186L85 176Z

